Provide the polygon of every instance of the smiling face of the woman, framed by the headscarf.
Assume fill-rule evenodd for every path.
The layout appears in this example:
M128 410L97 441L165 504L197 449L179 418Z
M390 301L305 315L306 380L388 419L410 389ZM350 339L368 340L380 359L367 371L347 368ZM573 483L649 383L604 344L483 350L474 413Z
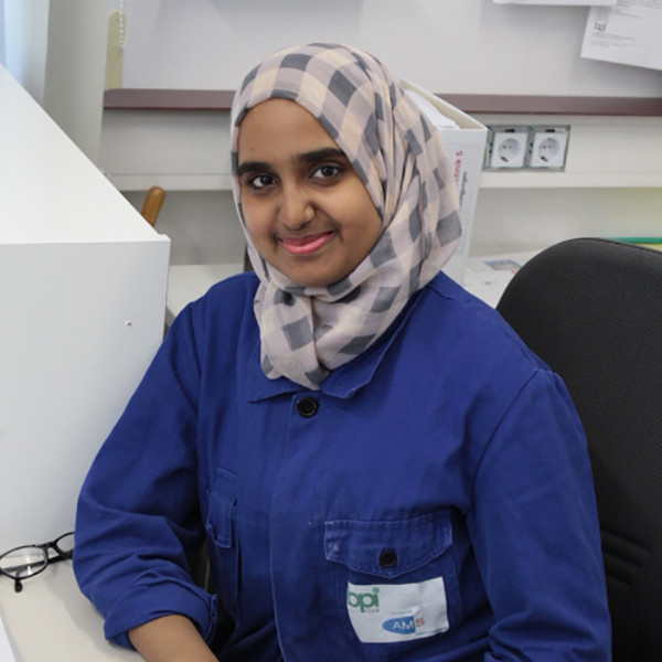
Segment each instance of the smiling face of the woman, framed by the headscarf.
M350 161L308 110L288 99L253 107L239 127L238 181L257 252L298 285L348 276L382 218Z

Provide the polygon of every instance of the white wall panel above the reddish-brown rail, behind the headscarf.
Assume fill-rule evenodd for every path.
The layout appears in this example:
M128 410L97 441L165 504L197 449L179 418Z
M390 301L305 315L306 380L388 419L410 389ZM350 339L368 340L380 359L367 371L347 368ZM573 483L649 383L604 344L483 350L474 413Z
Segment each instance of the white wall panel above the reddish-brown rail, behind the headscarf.
M662 72L580 57L587 7L493 0L135 0L125 87L229 88L287 44L362 46L434 92L659 96Z

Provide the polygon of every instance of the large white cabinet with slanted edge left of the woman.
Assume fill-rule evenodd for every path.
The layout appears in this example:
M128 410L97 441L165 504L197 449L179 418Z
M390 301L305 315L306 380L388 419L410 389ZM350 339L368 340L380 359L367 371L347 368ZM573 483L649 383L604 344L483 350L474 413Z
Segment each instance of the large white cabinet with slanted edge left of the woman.
M163 334L170 239L0 66L0 551L74 525Z

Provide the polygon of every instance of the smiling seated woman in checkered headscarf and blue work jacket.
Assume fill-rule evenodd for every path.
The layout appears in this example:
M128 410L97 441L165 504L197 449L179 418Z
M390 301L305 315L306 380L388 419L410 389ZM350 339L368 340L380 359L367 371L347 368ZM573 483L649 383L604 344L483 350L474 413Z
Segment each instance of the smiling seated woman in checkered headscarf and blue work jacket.
M175 320L81 494L107 637L150 661L608 660L581 427L439 273L435 131L375 58L310 44L246 76L232 146L255 274Z

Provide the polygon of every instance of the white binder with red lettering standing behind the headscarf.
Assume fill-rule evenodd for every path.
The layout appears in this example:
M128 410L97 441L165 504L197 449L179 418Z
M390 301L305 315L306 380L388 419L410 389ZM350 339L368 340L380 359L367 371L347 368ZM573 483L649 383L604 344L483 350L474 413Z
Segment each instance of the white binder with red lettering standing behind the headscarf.
M402 78L399 84L412 95L420 110L427 115L437 128L446 146L448 157L452 161L455 181L460 194L462 238L456 253L444 267L444 271L459 284L462 284L471 242L473 214L478 200L488 128L410 81ZM419 103L417 96L423 99L423 103Z

